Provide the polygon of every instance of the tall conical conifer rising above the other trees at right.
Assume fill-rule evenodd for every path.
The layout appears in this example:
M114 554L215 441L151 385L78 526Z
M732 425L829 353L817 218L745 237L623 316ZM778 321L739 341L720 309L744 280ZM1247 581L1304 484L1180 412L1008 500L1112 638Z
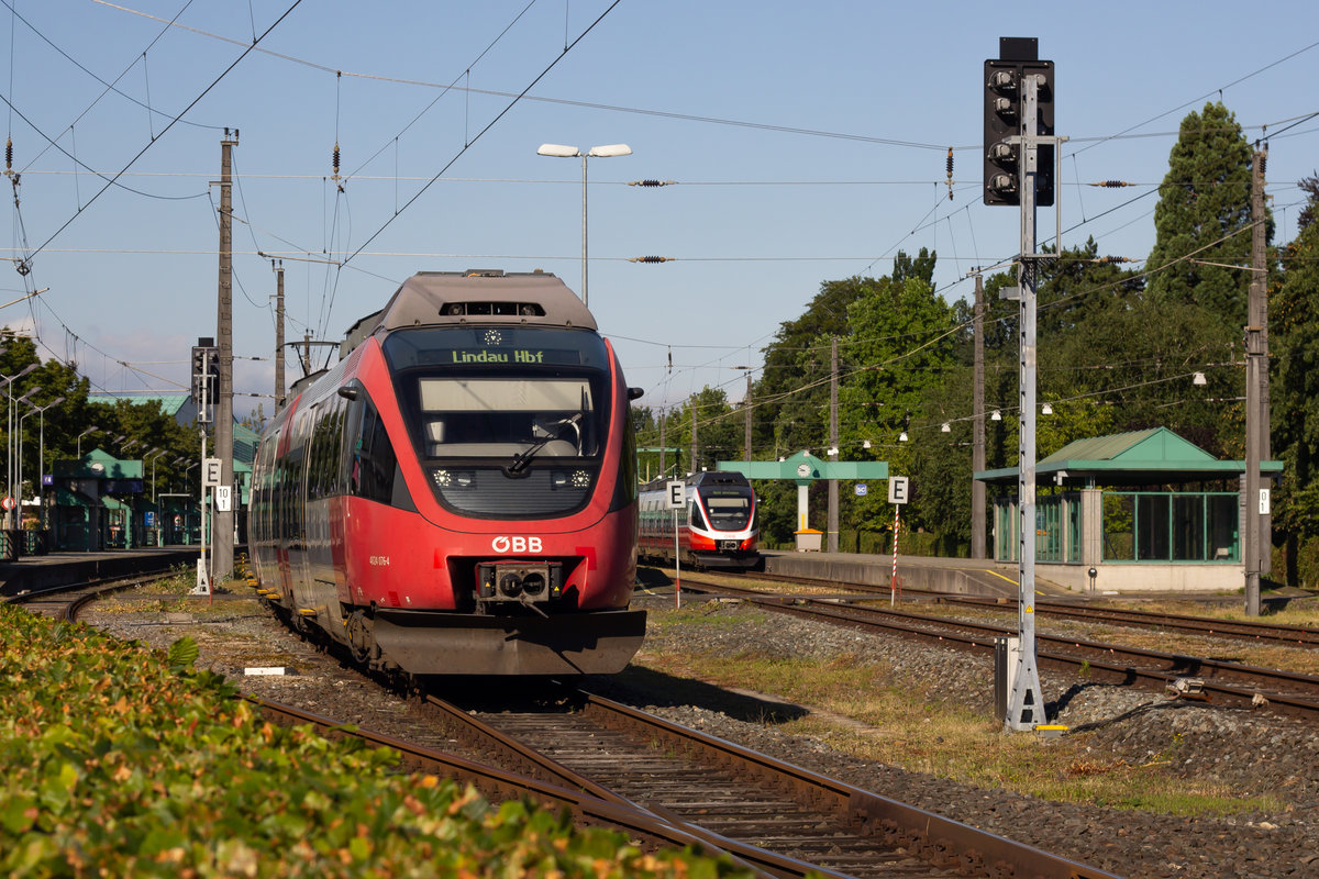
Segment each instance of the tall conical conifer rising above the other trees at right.
M1250 145L1235 115L1206 104L1182 120L1154 207L1149 295L1200 303L1236 329L1245 324L1250 264Z

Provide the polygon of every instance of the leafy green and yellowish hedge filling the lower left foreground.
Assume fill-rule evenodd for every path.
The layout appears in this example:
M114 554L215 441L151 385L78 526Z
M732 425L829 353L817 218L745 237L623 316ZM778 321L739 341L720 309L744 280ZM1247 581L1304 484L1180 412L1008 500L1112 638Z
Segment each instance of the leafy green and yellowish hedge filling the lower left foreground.
M721 876L567 814L489 805L396 759L264 722L235 688L0 605L0 875Z

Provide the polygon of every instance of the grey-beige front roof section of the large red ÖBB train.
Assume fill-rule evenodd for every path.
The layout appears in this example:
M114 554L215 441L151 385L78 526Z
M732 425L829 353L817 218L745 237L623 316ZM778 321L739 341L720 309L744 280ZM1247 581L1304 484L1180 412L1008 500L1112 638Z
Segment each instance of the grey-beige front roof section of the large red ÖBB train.
M380 331L463 323L517 323L596 329L595 318L562 279L549 271L419 271L380 311L352 327L339 356Z

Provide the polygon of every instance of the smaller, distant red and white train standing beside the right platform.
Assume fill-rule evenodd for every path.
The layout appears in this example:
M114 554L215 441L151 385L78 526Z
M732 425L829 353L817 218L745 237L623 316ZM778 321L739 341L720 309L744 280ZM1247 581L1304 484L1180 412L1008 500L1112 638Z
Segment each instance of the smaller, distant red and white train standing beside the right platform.
M690 473L682 482L687 501L682 510L669 507L665 481L642 488L640 553L666 563L681 553L683 564L696 568L758 567L756 492L747 477L707 470Z

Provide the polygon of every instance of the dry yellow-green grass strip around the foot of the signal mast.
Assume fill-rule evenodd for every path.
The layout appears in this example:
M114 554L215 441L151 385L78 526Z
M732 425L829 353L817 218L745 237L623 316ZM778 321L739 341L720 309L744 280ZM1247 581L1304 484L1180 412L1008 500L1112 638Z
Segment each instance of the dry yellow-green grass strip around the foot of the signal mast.
M765 614L760 619L719 617L695 605L681 611L650 610L646 643L633 664L678 679L772 693L811 709L780 722L785 733L816 738L864 760L977 787L1188 817L1272 812L1283 805L1278 797L1236 796L1208 779L1178 778L1171 767L1183 742L1171 737L1159 755L1141 764L1096 758L1087 751L1086 735L1005 735L992 714L940 698L929 681L897 680L886 666L859 656L818 662L757 650L694 652L670 646L677 626L765 622Z

